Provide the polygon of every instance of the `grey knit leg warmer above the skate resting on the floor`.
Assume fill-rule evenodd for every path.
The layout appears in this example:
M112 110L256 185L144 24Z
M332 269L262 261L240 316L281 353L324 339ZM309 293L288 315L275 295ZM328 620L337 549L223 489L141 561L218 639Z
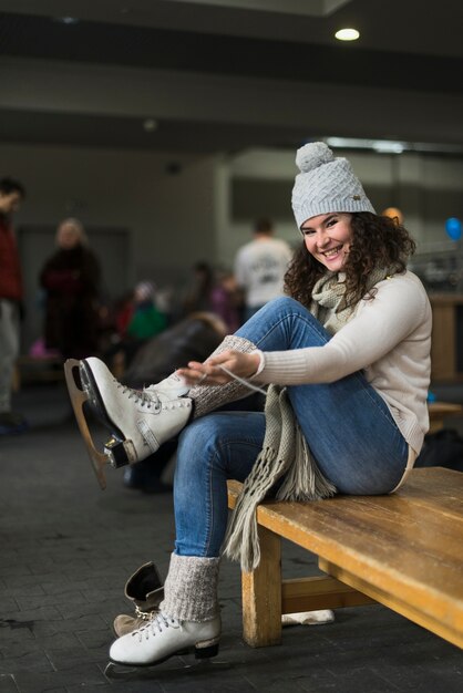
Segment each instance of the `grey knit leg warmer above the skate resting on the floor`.
M160 609L178 621L210 621L219 613L217 600L220 558L171 555Z

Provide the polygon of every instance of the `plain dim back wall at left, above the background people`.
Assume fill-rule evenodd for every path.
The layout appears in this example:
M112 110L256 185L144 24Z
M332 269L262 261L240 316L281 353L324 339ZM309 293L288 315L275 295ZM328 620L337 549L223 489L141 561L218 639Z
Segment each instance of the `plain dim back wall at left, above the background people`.
M1 176L20 179L27 199L16 225L127 228L134 279L164 283L195 260L215 257L215 161L135 151L0 145ZM176 174L167 167L177 164Z

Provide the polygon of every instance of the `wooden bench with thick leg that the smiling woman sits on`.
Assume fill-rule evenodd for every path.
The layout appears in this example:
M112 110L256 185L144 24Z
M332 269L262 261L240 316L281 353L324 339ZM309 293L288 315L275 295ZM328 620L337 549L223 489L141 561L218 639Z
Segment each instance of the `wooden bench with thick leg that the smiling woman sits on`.
M228 506L241 488L228 483ZM463 648L463 474L413 469L388 496L257 508L261 559L241 573L253 647L281 641L281 614L381 603ZM323 575L281 579L281 539L318 556Z

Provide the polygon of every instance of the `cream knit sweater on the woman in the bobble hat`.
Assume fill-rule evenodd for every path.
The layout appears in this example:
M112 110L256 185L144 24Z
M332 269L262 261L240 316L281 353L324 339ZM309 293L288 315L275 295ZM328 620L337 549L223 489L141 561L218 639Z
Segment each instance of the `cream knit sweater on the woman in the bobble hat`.
M375 285L350 321L323 346L265 352L261 383L330 383L362 370L418 455L429 428L431 306L410 271Z

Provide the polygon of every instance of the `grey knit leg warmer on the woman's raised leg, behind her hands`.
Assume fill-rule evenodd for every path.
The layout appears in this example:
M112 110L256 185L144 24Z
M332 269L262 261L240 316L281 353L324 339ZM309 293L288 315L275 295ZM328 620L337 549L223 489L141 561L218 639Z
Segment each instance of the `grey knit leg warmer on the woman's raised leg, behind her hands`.
M223 351L227 351L228 349L234 349L235 351L240 351L243 353L250 353L255 349L257 349L256 344L253 344L249 340L244 337L236 337L236 334L227 334L223 342L217 346L217 349L210 354L215 356L216 354L222 353ZM236 381L232 381L226 385L212 385L212 386L196 386L192 387L188 392L188 397L194 400L194 410L193 410L193 418L198 418L198 416L204 416L204 414L208 414L214 410L218 408L223 404L227 404L228 402L235 402L235 400L243 400L251 391L238 383Z

